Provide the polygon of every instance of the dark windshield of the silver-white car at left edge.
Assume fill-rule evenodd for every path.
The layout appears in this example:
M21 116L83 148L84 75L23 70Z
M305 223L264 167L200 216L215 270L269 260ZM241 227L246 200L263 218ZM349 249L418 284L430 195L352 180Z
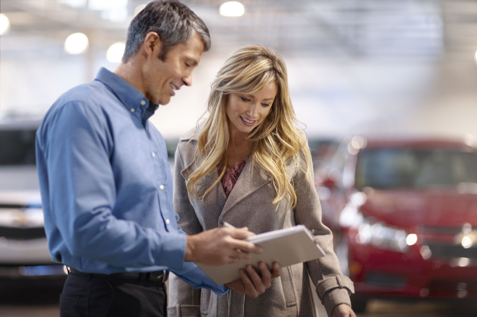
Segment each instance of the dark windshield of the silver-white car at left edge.
M0 129L0 166L35 165L35 130Z

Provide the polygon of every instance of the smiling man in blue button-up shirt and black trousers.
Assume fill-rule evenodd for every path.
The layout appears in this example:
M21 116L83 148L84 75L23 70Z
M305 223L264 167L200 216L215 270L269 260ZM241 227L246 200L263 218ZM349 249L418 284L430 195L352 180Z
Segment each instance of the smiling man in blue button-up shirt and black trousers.
M176 0L149 3L131 22L113 72L55 101L37 132L37 167L52 258L70 267L61 316L164 316L168 271L219 295L192 262L221 265L261 249L247 228L186 236L177 228L162 135L148 121L210 48L204 22ZM177 118L178 119L178 118ZM187 198L186 198L187 199ZM262 269L228 288L256 297L280 276Z

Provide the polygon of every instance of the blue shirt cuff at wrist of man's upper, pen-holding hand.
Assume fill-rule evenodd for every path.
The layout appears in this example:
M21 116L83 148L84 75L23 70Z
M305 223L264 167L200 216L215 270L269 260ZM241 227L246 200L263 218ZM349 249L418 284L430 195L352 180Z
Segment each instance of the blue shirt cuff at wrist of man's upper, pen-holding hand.
M178 233L166 233L160 237L160 248L157 248L155 262L158 266L180 270L186 257L187 238Z

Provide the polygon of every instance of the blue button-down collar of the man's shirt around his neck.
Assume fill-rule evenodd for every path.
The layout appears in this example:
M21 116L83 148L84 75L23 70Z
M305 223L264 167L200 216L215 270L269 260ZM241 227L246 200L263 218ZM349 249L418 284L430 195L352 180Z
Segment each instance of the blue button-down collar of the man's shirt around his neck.
M99 69L94 80L104 83L132 115L143 121L149 119L159 108L159 105L147 100L142 92L135 89L130 83L104 67Z

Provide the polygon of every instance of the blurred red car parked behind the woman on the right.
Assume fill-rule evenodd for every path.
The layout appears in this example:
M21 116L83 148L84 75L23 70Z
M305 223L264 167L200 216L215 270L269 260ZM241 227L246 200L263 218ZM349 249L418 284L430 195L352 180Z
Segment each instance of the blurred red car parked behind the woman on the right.
M473 139L346 140L317 171L323 222L341 233L355 311L368 298L477 298Z

